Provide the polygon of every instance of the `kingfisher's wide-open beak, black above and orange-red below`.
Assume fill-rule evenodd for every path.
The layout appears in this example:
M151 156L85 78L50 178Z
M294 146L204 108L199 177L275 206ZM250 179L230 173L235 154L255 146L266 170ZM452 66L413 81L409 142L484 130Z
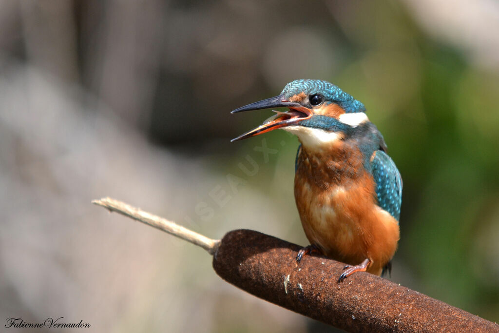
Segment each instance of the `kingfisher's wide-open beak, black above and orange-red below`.
M268 109L272 107L283 107L283 106L287 106L289 110L286 112L279 112L272 110L276 114L265 120L263 124L261 124L260 126L250 130L249 132L241 134L237 138L232 139L231 142L246 139L258 134L266 133L276 128L296 125L299 121L303 119L308 119L312 116L312 110L304 107L301 104L290 102L282 95L248 104L246 106L240 107L239 109L232 111L231 113Z

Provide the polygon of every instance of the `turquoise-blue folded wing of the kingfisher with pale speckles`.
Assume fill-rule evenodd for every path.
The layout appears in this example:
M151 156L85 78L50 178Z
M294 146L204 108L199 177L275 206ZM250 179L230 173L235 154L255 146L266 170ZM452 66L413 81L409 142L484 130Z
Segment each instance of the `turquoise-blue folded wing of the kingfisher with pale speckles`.
M390 156L377 150L371 161L371 170L376 183L378 205L397 221L402 204L402 178Z

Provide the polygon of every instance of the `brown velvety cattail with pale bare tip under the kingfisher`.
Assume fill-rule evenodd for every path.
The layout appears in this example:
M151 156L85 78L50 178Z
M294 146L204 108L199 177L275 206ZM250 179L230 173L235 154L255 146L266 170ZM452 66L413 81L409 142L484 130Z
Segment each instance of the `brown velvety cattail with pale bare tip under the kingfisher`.
M366 272L336 283L344 264L252 230L213 240L123 202L92 203L143 222L213 255L225 281L285 309L349 332L499 332L499 325Z

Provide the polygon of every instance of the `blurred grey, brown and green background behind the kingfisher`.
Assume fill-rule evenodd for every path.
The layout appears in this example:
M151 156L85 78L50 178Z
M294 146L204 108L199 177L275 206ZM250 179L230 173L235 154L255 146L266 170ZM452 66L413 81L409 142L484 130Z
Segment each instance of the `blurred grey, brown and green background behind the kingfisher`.
M202 249L90 204L307 245L297 139L230 143L270 113L229 112L320 78L366 105L402 173L391 280L498 322L498 31L494 0L0 1L0 319L324 329L223 282Z

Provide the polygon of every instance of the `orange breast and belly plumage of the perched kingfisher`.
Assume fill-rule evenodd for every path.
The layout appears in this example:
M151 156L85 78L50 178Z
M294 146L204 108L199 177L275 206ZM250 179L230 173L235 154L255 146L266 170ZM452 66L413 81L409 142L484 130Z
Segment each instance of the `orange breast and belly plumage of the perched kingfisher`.
M346 264L369 258L373 263L368 272L380 275L397 248L399 227L376 205L374 189L360 152L319 155L302 148L294 195L308 240Z

